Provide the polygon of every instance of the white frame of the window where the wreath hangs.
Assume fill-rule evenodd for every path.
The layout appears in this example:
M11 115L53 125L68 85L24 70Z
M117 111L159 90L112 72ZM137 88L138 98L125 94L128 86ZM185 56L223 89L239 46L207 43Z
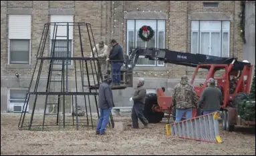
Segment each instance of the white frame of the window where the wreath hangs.
M134 27L131 29L128 27L128 21L133 21L134 22ZM155 31L155 47L158 48L159 47L159 38L158 38L158 33L160 31L163 31L164 32L164 49L166 48L166 19L127 19L127 24L126 24L126 55L128 55L128 52L129 52L129 47L128 47L128 37L129 37L129 32L132 31L133 32L133 42L134 42L134 47L137 46L137 41L138 41L138 35L136 35L136 21L155 21L156 22L156 31ZM162 29L159 29L158 30L158 21L164 21L164 30ZM139 58L144 58L144 56L140 56ZM137 65L137 67L164 67L165 66L165 63L163 64L159 64L158 61L155 61L154 65L149 65L149 64L145 64L145 65Z

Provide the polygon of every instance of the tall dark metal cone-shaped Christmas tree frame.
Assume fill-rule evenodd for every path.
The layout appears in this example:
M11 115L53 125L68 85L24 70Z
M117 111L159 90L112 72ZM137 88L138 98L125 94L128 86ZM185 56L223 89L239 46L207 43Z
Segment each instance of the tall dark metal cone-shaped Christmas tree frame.
M58 27L66 27L66 35L57 35L57 28ZM80 57L70 57L70 27L74 27L78 29L78 41L80 43ZM99 117L99 112L98 112L98 103L97 103L97 97L98 97L98 91L97 91L97 84L100 84L100 81L102 81L102 73L100 71L100 69L98 69L97 71L97 67L98 67L98 57L95 58L94 57L94 53L92 54L93 57L84 57L84 49L83 49L83 43L85 41L82 41L82 27L86 27L86 33L88 33L88 40L90 42L90 51L92 51L93 47L96 45L95 41L94 41L94 35L92 33L92 27L90 25L90 23L73 23L73 22L56 22L56 23L45 23L44 27L43 27L43 33L41 35L41 41L39 43L39 48L37 51L37 59L36 59L36 63L35 63L35 67L33 69L33 74L31 77L31 81L29 83L29 87L28 87L28 91L26 94L26 100L24 102L23 105L23 110L21 112L21 117L19 119L19 125L18 127L20 129L25 129L25 127L27 127L29 130L31 130L32 126L37 126L37 127L41 127L41 130L43 130L43 128L45 126L51 126L51 125L45 125L45 115L57 115L57 119L56 119L56 123L53 125L59 125L59 127L61 127L61 125L63 125L63 128L66 127L66 121L65 121L65 105L66 105L66 97L67 96L71 96L72 97L72 111L74 112L74 102L76 104L76 129L78 129L79 126L79 122L78 122L78 95L82 95L84 96L84 103L86 106L86 121L87 121L87 125L86 126L90 126L92 127L92 129L94 129L94 124L93 124L93 119L92 119L92 107L91 107L91 102L90 102L90 95L94 96L94 100L95 100L95 104L96 104L96 109L97 109L97 114ZM53 31L52 33L52 37L51 37L51 49L50 49L50 56L49 57L45 57L44 51L45 51L45 47L47 47L46 43L47 41L49 41L49 37L50 35L49 33L49 29L51 28L51 31ZM53 29L53 30L52 30ZM73 31L73 29L71 30ZM75 35L74 35L75 36ZM56 40L58 38L61 38L61 40L65 39L66 42L66 46L65 47L59 47L56 46ZM63 39L62 39L63 38ZM46 45L46 46L45 46ZM65 48L66 49L66 53L63 57L55 57L55 48ZM47 50L46 50L47 51ZM78 54L78 53L76 53ZM98 56L98 51L96 49L96 54ZM53 65L54 65L54 61L61 61L61 69L53 69ZM49 61L49 63L47 63L47 61ZM74 61L74 72L75 72L75 80L76 80L76 91L69 91L69 75L68 75L68 62L69 61ZM82 91L78 91L78 75L77 75L77 65L76 65L76 61L79 62L80 64L80 75L81 75L81 83L82 83ZM38 86L39 86L39 80L40 80L40 76L41 76L41 71L43 69L43 64L49 65L48 66L48 71L47 71L47 82L46 82L46 89L45 91L38 91ZM92 85L90 83L90 73L89 73L89 65L88 63L90 63L90 67L91 67L91 72L92 72L92 77L94 80L94 85ZM34 85L34 89L32 90L32 83L33 83L33 79L34 79L34 75L35 75L35 71L37 69L37 65L39 64L39 69L38 69L38 73L37 73L37 78L35 80L35 85ZM85 72L84 72L84 65L86 67ZM54 81L52 80L52 75L54 71L58 71L61 72L61 77L60 77L60 81ZM97 72L100 72L100 77L98 77ZM86 74L86 78L84 78L84 75ZM84 85L84 80L87 79L88 81L88 85ZM60 87L61 87L61 91L50 91L52 89L51 87L51 82L57 82L57 83L61 83ZM55 86L53 86L54 88ZM86 89L84 89L86 87ZM25 119L25 115L27 114L26 110L27 107L29 105L29 99L31 97L31 95L35 95L35 98L33 100L33 109L31 112L31 117L30 117L30 121L29 121L29 125L25 126L24 124L24 119ZM43 123L41 125L33 125L33 117L34 117L34 113L35 113L35 106L37 105L37 97L39 95L45 95L45 105L44 105L44 111L43 111ZM53 95L53 96L57 96L57 103L49 103L48 99L49 99L49 95ZM62 96L62 101L61 100L61 96ZM86 96L88 97L88 105L86 102ZM75 97L75 101L74 101L74 97ZM63 114L63 124L60 123L60 115L61 115L61 102L62 102L62 114ZM53 114L53 113L46 113L47 111L47 105L57 105L57 113ZM88 108L89 106L89 108ZM55 108L55 107L54 107ZM88 113L90 112L90 120L91 120L91 124L89 123L89 115ZM73 114L73 113L72 113ZM72 125L74 125L74 115L72 115ZM110 123L112 124L112 127L114 127L114 121L112 118L112 114L110 114Z

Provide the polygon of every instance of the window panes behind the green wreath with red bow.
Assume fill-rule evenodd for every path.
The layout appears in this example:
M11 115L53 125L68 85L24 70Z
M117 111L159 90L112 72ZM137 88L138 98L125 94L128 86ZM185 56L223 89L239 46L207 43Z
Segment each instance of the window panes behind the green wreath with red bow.
M143 25L152 27L155 31L154 37L148 41L142 41L138 36L138 31ZM127 46L126 51L130 50L130 47L155 47L165 48L165 20L127 20ZM164 66L162 61L152 61L141 56L138 59L137 66Z

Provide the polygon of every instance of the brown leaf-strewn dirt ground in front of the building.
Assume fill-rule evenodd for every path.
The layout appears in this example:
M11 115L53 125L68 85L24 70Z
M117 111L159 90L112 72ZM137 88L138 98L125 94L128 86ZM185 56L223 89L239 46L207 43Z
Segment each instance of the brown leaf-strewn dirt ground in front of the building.
M55 119L47 118L47 122ZM72 123L72 117L66 119ZM42 117L35 116L35 123L39 121ZM130 117L114 121L131 123ZM19 130L18 123L19 115L1 115L1 155L255 155L254 127L221 130L224 142L217 144L167 136L166 121L150 124L148 129L134 130L128 125L127 131L118 132L108 128L104 136L95 135L92 127L27 131Z

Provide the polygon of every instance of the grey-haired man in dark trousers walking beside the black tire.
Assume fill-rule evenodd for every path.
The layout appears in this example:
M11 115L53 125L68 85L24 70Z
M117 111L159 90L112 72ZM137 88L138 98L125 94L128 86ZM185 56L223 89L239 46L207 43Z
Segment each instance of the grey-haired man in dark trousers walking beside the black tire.
M134 96L130 98L130 101L134 101L134 105L132 107L132 126L134 129L138 129L138 119L140 119L140 121L143 123L144 128L148 127L148 120L143 115L146 99L146 89L143 87L143 85L144 79L138 79Z

